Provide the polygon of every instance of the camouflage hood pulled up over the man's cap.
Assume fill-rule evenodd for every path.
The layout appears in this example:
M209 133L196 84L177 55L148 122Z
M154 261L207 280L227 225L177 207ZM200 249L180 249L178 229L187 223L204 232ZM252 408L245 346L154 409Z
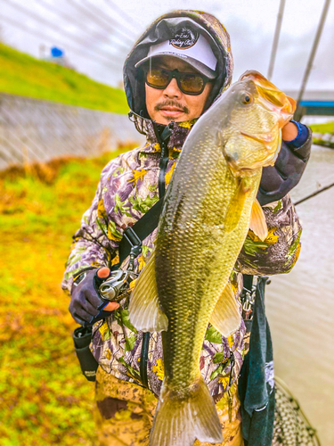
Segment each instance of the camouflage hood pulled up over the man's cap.
M218 76L208 97L205 110L219 97L232 82L233 59L230 36L224 26L207 12L177 10L162 15L146 29L143 36L134 44L124 64L124 87L127 103L131 109L130 118L137 130L144 135L151 133L151 120L145 106L145 86L143 72L134 65L147 56L151 45L157 45L172 37L175 29L191 26L212 42L216 56ZM175 126L177 128L178 126Z

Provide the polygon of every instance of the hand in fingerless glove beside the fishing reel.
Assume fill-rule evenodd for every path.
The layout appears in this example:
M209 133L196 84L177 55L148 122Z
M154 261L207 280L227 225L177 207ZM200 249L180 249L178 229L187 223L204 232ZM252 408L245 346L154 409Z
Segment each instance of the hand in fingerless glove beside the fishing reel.
M97 320L110 316L111 311L118 309L117 302L102 301L94 285L95 275L108 277L109 268L90 269L77 277L71 290L69 312L74 320L82 326L92 326ZM99 316L98 316L99 315Z

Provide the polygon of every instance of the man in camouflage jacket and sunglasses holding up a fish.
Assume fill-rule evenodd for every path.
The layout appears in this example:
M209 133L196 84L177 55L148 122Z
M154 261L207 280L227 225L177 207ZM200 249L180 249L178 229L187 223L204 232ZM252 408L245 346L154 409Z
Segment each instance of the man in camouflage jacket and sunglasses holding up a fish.
M102 300L94 289L96 272L102 267L116 268L125 228L132 227L163 196L194 122L229 87L229 36L208 13L168 13L134 45L125 62L124 78L130 115L147 143L120 155L102 170L92 206L74 236L63 288L71 293L69 310L82 325L99 317ZM258 193L265 205L269 235L260 244L249 232L232 273L238 301L241 273L288 272L300 249L301 227L287 194L305 169L311 134L305 126L289 122L282 137L285 143L280 156L275 167L264 169ZM155 236L156 230L143 240L143 253L134 260L135 271L143 269ZM117 268L127 264L128 259ZM160 335L137 333L127 308L128 299L110 302L104 310L112 312L93 330L92 351L101 366L96 376L95 417L100 443L106 445L147 444L164 376ZM236 383L247 348L245 335L243 321L228 339L209 329L200 358L201 373L222 423L222 444L243 444ZM143 386L146 382L148 389Z

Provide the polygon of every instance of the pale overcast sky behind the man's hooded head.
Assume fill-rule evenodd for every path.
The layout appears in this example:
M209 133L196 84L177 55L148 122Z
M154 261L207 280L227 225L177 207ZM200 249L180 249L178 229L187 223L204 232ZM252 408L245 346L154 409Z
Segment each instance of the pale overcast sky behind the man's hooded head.
M119 85L126 54L159 15L180 0L0 0L1 37L21 51L40 55L53 45L80 72ZM210 12L232 41L234 80L246 70L268 72L280 0L183 0L184 9ZM300 87L324 0L286 0L273 82ZM35 34L35 35L34 35ZM308 90L334 90L334 6L322 32Z

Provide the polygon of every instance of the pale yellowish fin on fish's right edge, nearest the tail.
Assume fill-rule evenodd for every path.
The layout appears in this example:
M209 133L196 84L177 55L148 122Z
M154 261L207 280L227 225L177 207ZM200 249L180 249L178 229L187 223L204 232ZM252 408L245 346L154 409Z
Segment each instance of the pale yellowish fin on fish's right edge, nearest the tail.
M216 302L216 307L212 312L210 323L224 337L228 337L240 327L241 317L237 300L228 283L224 291Z

